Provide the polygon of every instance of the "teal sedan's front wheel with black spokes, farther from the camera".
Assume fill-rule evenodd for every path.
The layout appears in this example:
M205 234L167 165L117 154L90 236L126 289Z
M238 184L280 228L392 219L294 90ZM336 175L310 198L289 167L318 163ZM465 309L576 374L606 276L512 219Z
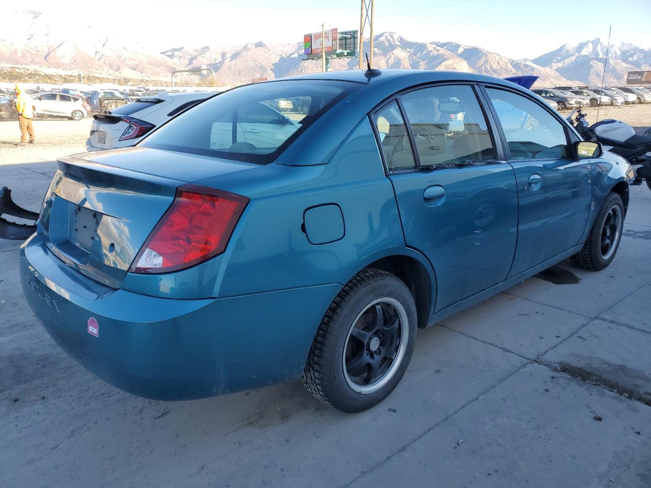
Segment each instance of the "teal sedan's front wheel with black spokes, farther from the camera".
M583 249L572 256L572 264L583 269L599 271L613 262L624 226L622 198L611 192L594 219Z

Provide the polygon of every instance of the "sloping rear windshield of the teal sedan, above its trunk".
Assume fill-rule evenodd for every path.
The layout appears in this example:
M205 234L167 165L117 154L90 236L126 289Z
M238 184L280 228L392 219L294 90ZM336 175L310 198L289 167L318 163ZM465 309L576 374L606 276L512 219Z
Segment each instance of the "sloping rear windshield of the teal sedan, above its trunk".
M161 126L140 146L271 163L357 83L287 80L235 88Z

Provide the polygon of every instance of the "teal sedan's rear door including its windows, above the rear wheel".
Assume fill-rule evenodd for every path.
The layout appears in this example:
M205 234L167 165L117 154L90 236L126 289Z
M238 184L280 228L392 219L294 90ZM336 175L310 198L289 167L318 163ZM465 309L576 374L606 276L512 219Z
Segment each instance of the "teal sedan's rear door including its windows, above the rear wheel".
M503 281L516 249L518 193L473 87L408 92L374 122L406 244L436 273L436 311Z

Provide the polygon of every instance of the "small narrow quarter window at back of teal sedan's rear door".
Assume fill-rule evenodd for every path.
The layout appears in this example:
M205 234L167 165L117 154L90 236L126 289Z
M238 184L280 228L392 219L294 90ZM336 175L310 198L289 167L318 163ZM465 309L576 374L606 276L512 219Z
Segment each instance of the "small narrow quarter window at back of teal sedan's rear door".
M414 169L416 160L398 103L391 102L377 111L373 122L378 128L380 148L389 172Z

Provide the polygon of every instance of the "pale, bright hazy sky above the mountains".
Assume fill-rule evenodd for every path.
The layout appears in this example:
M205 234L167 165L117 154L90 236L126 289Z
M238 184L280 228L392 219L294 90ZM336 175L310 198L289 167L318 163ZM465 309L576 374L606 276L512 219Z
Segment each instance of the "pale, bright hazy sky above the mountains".
M367 0L368 1L368 0ZM569 42L600 37L651 47L651 0L376 0L375 32L395 31L413 41L454 41L508 57L536 57ZM106 7L107 4L102 4ZM61 8L51 0L28 0L22 8L83 15L151 49L232 46L245 42L300 42L326 27L359 29L358 0L153 1L132 8ZM100 11L107 12L101 20ZM124 14L120 18L119 15ZM58 15L58 14L57 14Z

